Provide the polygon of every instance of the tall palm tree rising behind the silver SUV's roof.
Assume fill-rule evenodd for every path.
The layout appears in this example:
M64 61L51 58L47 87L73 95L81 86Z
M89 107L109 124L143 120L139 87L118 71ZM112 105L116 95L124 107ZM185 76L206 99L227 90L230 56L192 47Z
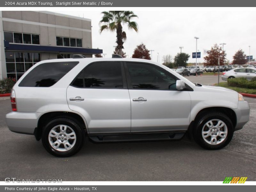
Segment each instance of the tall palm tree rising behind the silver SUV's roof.
M104 11L100 20L100 33L103 30L116 31L116 44L118 54L122 55L124 49L124 41L126 40L126 33L123 31L122 24L126 24L129 29L138 32L138 24L131 21L134 17L138 17L132 11Z

